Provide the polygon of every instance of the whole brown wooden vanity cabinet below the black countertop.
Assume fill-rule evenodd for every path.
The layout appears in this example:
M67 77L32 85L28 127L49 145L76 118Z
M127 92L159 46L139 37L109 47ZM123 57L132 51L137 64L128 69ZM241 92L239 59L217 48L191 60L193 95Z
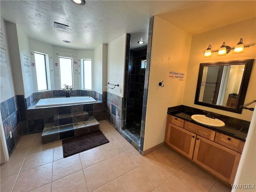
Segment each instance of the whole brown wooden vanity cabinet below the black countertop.
M183 128L181 120L168 115L166 144L218 178L233 184L244 142L184 120Z

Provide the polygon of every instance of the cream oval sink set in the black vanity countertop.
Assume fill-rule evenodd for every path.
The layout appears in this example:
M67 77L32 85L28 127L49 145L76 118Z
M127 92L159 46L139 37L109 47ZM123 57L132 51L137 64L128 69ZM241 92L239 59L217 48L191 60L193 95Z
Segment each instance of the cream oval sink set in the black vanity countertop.
M192 115L192 120L195 122L198 122L200 124L213 126L213 127L223 127L225 126L225 123L222 120L219 119L212 119L209 117L206 117L205 115Z

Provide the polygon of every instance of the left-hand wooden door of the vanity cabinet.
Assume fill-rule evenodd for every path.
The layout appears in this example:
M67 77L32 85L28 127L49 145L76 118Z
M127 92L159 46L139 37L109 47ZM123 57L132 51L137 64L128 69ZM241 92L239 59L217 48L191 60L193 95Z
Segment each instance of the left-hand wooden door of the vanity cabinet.
M192 159L196 134L169 123L166 144Z

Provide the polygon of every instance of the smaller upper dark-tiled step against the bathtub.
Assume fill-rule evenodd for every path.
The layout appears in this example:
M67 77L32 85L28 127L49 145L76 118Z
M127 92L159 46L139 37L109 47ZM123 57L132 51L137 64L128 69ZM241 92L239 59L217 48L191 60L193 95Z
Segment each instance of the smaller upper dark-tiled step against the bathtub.
M88 112L78 112L63 115L54 115L54 125L61 126L65 124L72 124L81 121L87 121L89 119Z

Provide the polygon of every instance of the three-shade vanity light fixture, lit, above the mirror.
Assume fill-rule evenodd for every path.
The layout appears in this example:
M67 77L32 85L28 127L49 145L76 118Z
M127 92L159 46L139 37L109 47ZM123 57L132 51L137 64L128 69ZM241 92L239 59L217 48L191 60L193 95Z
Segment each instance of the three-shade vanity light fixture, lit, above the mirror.
M250 47L248 46L244 46L243 44L243 39L240 38L240 41L238 42L238 44L236 45L235 48L231 48L230 46L226 46L226 43L223 42L222 46L220 47L219 50L212 50L212 46L209 45L208 48L206 49L206 51L204 52L204 56L205 57L210 57L212 56L212 53L214 52L218 52L218 56L220 55L226 55L230 52L230 50L234 50L233 53L243 53L244 52L244 48L248 48Z

